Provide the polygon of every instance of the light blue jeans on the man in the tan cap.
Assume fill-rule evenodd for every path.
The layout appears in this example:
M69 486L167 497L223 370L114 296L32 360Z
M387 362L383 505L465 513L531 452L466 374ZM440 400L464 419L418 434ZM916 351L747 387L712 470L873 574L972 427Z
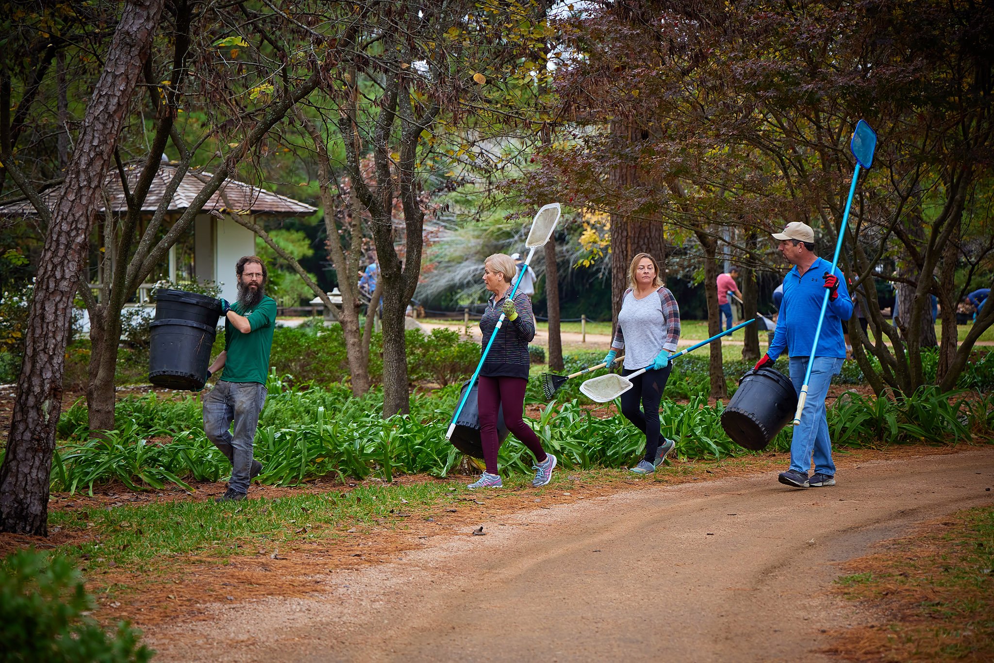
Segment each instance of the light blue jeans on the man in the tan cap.
M839 357L814 359L807 400L804 402L804 410L801 411L801 422L794 426L793 437L790 440L790 469L807 474L813 456L815 472L835 475L832 440L828 437L828 419L825 418L825 397L828 396L828 386L832 382L832 376L839 375L842 371L842 361ZM807 357L790 358L790 382L793 383L798 395L804 385L807 365Z

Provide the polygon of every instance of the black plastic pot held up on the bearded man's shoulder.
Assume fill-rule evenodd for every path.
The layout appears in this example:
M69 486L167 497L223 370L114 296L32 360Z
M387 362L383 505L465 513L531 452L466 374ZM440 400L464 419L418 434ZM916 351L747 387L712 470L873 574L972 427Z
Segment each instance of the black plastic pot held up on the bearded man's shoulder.
M220 315L221 302L214 297L158 290L151 324L148 381L169 389L204 389Z

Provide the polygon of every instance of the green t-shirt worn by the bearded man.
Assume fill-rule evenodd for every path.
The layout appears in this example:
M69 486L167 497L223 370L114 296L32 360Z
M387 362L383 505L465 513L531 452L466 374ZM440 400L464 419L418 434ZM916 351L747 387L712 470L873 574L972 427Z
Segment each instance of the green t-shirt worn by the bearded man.
M248 318L251 331L243 334L231 320L225 320L225 372L221 379L228 382L257 382L265 384L269 375L269 350L272 348L272 330L276 326L276 300L262 297L249 311L235 302L232 310Z

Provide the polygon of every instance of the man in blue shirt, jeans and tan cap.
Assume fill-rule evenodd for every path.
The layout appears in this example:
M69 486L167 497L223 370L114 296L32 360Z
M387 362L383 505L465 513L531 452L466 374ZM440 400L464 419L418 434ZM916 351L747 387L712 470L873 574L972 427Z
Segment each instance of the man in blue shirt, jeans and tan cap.
M794 266L783 279L783 301L773 342L756 362L755 369L772 366L784 348L789 347L790 382L799 395L808 361L814 355L801 422L794 426L790 440L790 469L780 472L779 481L797 488L834 486L835 463L832 462L832 440L825 418L825 397L832 376L839 374L846 358L842 321L852 316L853 302L842 271L836 267L830 273L832 263L814 253L814 231L810 226L800 222L787 224L782 233L773 235L773 239L780 243L777 249L783 258ZM818 347L812 349L825 288L829 291L828 307ZM814 474L808 477L812 456Z

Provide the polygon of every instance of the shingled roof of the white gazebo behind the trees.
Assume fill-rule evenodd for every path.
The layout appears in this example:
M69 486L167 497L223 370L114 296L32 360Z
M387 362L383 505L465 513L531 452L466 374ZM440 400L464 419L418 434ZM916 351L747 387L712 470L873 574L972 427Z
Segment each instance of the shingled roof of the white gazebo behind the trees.
M128 179L129 188L133 188L135 181L138 179L138 173L138 168L135 166L129 166L125 169L125 176ZM152 181L152 186L148 190L148 196L145 198L145 203L142 206L142 212L151 214L158 209L159 203L162 201L162 197L166 192L166 187L175 175L175 166L162 164L162 166L159 167L159 171L156 173L156 176ZM211 173L197 173L195 175L194 173L188 171L186 176L183 178L183 181L176 189L176 194L173 196L173 199L169 204L169 211L185 211L193 202L193 199L197 196L197 194L204 188L205 183L211 179L211 177ZM107 197L110 199L111 212L127 212L124 191L121 188L120 177L118 176L116 170L112 170L107 174L105 184L107 189ZM42 200L45 201L47 205L52 207L55 205L61 192L62 187L52 187L42 194ZM227 196L229 202L231 203L231 208L226 205L222 192L225 196ZM253 187L245 182L228 180L204 205L204 212L211 212L214 210L219 212L246 211L248 214L267 214L280 217L301 217L313 214L317 211L317 208L295 201L292 198L287 198L286 196L271 193L265 189ZM98 208L98 211L104 211L102 204ZM4 217L31 216L34 214L36 214L35 207L30 201L20 201L0 207L0 216Z

